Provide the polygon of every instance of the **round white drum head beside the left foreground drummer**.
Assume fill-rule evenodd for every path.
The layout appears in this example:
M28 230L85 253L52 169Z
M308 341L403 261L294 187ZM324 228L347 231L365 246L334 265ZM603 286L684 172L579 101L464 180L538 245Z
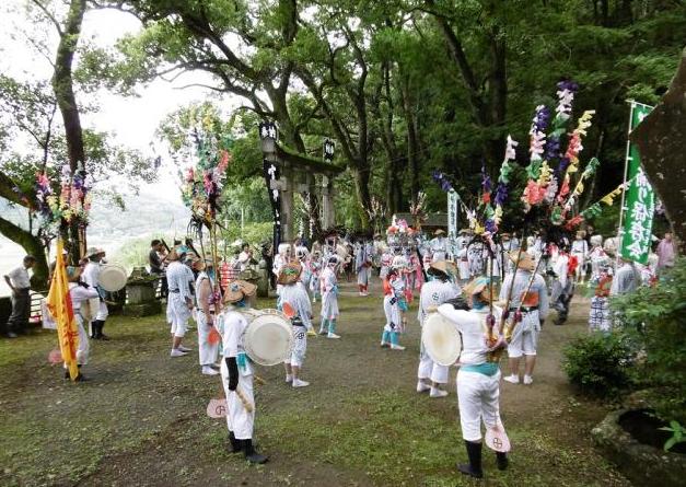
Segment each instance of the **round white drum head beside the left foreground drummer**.
M254 362L260 366L281 363L289 357L293 345L291 324L280 312L267 311L251 322L243 344Z

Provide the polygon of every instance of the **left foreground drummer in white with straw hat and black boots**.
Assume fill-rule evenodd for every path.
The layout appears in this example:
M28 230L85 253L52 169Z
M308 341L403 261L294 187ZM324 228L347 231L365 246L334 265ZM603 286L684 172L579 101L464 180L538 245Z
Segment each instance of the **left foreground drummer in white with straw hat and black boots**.
M257 453L253 444L255 426L253 366L245 355L243 340L247 320L241 313L241 310L249 308L248 298L255 293L255 290L254 285L236 280L229 285L224 293L226 308L221 315L224 329L222 338L224 360L221 363L221 379L226 395L230 451L243 453L251 463L263 464L269 459Z

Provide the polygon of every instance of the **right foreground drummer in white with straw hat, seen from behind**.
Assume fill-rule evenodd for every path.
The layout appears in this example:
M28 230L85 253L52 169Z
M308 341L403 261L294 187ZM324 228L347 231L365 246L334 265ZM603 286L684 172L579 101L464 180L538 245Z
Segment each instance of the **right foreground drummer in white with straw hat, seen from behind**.
M463 350L460 356L457 372L457 404L460 407L460 425L462 437L467 449L468 464L457 465L457 469L470 477L481 478L481 421L486 428L502 430L500 419L500 369L490 353L485 331L488 329L487 318L489 303L493 295L489 292L489 278L478 277L463 290L472 306L465 311L461 303L444 303L438 312L452 322L462 334ZM496 323L500 322L502 311L492 308ZM505 453L496 453L498 468L508 467Z

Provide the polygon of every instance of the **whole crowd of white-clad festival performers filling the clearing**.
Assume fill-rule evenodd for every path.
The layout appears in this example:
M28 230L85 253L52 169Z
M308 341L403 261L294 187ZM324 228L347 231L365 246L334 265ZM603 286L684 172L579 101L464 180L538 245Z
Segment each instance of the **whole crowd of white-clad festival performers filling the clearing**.
M548 311L555 309L555 324L563 324L578 283L588 280L594 289L590 328L609 331L608 295L650 285L656 274L653 257L649 266L621 260L615 255L614 239L603 241L600 235L592 235L586 240L583 232L571 242L561 239L544 244L539 236L527 236L522 242L514 233L502 233L495 243L463 230L452 245L442 230L433 232L431 239L418 232L410 232L411 239L398 239L392 233L387 239L375 235L352 242L332 235L311 247L302 241L279 245L270 270L276 280L277 308L290 318L293 332L293 346L283 363L286 382L294 389L310 385L303 380L303 369L307 336L317 335L313 302L321 301L318 335L341 337L337 329L338 279L345 276L346 263L353 263L360 297L370 294L372 279L381 279L385 314L381 347L405 350L400 337L408 326L409 303L416 297L420 327L428 315L439 313L460 332L463 348L457 396L469 463L458 465L458 469L473 477L482 476L481 422L487 431L504 431L499 414L501 355L507 352L509 357L504 381L531 385L538 335ZM176 242L168 252L160 241L151 244L151 270L158 274L163 269L165 278L170 355L177 358L191 351L183 340L193 317L200 371L221 375L225 391L230 451L244 454L249 462L264 463L267 456L256 452L253 444L255 376L244 347L256 286L236 279L235 273L225 276L225 262L199 255L191 244ZM80 336L79 366L88 363L86 325L90 337L106 338L103 326L107 306L97 282L103 257L102 250L91 248L81 267L69 268ZM231 267L247 268L252 262L249 246L243 246ZM219 273L216 266L220 267ZM218 318L214 311L220 302L222 313ZM431 398L447 396L449 375L449 367L434 362L420 343L417 392L428 392ZM504 451L497 451L497 465L501 469L508 467Z

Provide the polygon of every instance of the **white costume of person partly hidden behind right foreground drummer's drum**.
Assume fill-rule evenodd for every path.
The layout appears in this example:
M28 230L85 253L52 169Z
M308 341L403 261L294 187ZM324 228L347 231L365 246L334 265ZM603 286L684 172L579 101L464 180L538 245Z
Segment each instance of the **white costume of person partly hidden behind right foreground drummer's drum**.
M417 313L419 326L423 326L428 315L428 309L438 308L445 301L457 298L458 295L460 288L452 282L443 282L435 279L425 283L419 294L419 312ZM447 367L435 363L427 352L423 341L420 339L417 378L428 379L438 384L446 384L447 375Z

